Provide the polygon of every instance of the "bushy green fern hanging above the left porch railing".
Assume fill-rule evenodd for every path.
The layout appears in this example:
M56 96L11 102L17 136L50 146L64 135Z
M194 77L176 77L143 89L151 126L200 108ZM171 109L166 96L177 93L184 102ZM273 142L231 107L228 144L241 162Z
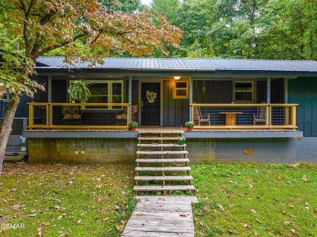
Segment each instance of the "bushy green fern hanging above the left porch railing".
M91 83L86 82L84 77L81 77L78 80L75 80L69 87L68 87L68 94L71 98L71 101L80 102L82 103L82 109L85 109L85 103L88 101L91 93L89 91L89 85Z

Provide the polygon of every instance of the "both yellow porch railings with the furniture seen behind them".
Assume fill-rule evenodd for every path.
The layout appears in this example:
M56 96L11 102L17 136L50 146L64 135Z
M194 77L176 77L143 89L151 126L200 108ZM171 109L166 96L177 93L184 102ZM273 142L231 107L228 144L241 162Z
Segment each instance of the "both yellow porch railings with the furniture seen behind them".
M29 130L96 130L126 132L130 121L143 125L142 107L131 103L28 103ZM188 104L188 121L195 123L193 133L227 131L295 132L297 104ZM132 109L133 107L133 109ZM176 115L177 116L177 115ZM180 124L182 129L184 124ZM168 127L168 128L166 128ZM169 126L159 129L170 129ZM148 127L147 127L148 128ZM158 127L151 127L157 129ZM176 127L177 128L177 127ZM37 130L39 131L39 130ZM113 135L114 136L114 135ZM299 137L299 136L298 136Z

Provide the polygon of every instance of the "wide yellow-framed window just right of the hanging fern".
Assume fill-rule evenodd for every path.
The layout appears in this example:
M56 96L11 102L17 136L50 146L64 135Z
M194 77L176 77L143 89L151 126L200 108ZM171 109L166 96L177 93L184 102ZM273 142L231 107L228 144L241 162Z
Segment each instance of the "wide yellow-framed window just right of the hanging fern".
M122 103L123 81L92 81L87 80L91 96L88 103ZM72 81L70 82L70 84Z

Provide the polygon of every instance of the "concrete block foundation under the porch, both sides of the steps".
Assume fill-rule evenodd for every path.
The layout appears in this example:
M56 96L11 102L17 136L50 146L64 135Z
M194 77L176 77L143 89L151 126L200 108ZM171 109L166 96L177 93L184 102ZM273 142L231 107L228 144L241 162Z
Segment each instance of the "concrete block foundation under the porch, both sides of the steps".
M296 163L297 138L187 138L191 163ZM136 138L28 138L29 162L134 163Z

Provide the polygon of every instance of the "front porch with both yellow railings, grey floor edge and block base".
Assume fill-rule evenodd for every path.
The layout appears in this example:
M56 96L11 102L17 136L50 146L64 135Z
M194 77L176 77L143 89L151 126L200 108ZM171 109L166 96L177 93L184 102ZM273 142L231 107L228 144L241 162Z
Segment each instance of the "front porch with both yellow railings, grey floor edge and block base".
M296 104L189 104L188 120L197 124L193 131L187 131L182 124L142 126L141 110L137 117L141 126L137 131L129 131L131 103L87 103L85 110L78 109L81 121L76 118L74 123L65 124L64 105L83 106L29 103L29 126L22 136L28 140L30 162L133 163L137 158L139 133L179 131L186 138L191 163L293 164L297 141L303 136L303 132L296 130ZM264 119L258 124L255 118L259 107L264 108ZM121 117L125 120L118 121L116 115L124 111L126 116ZM226 113L236 113L234 121ZM198 116L206 114L209 114L208 124L199 124Z

